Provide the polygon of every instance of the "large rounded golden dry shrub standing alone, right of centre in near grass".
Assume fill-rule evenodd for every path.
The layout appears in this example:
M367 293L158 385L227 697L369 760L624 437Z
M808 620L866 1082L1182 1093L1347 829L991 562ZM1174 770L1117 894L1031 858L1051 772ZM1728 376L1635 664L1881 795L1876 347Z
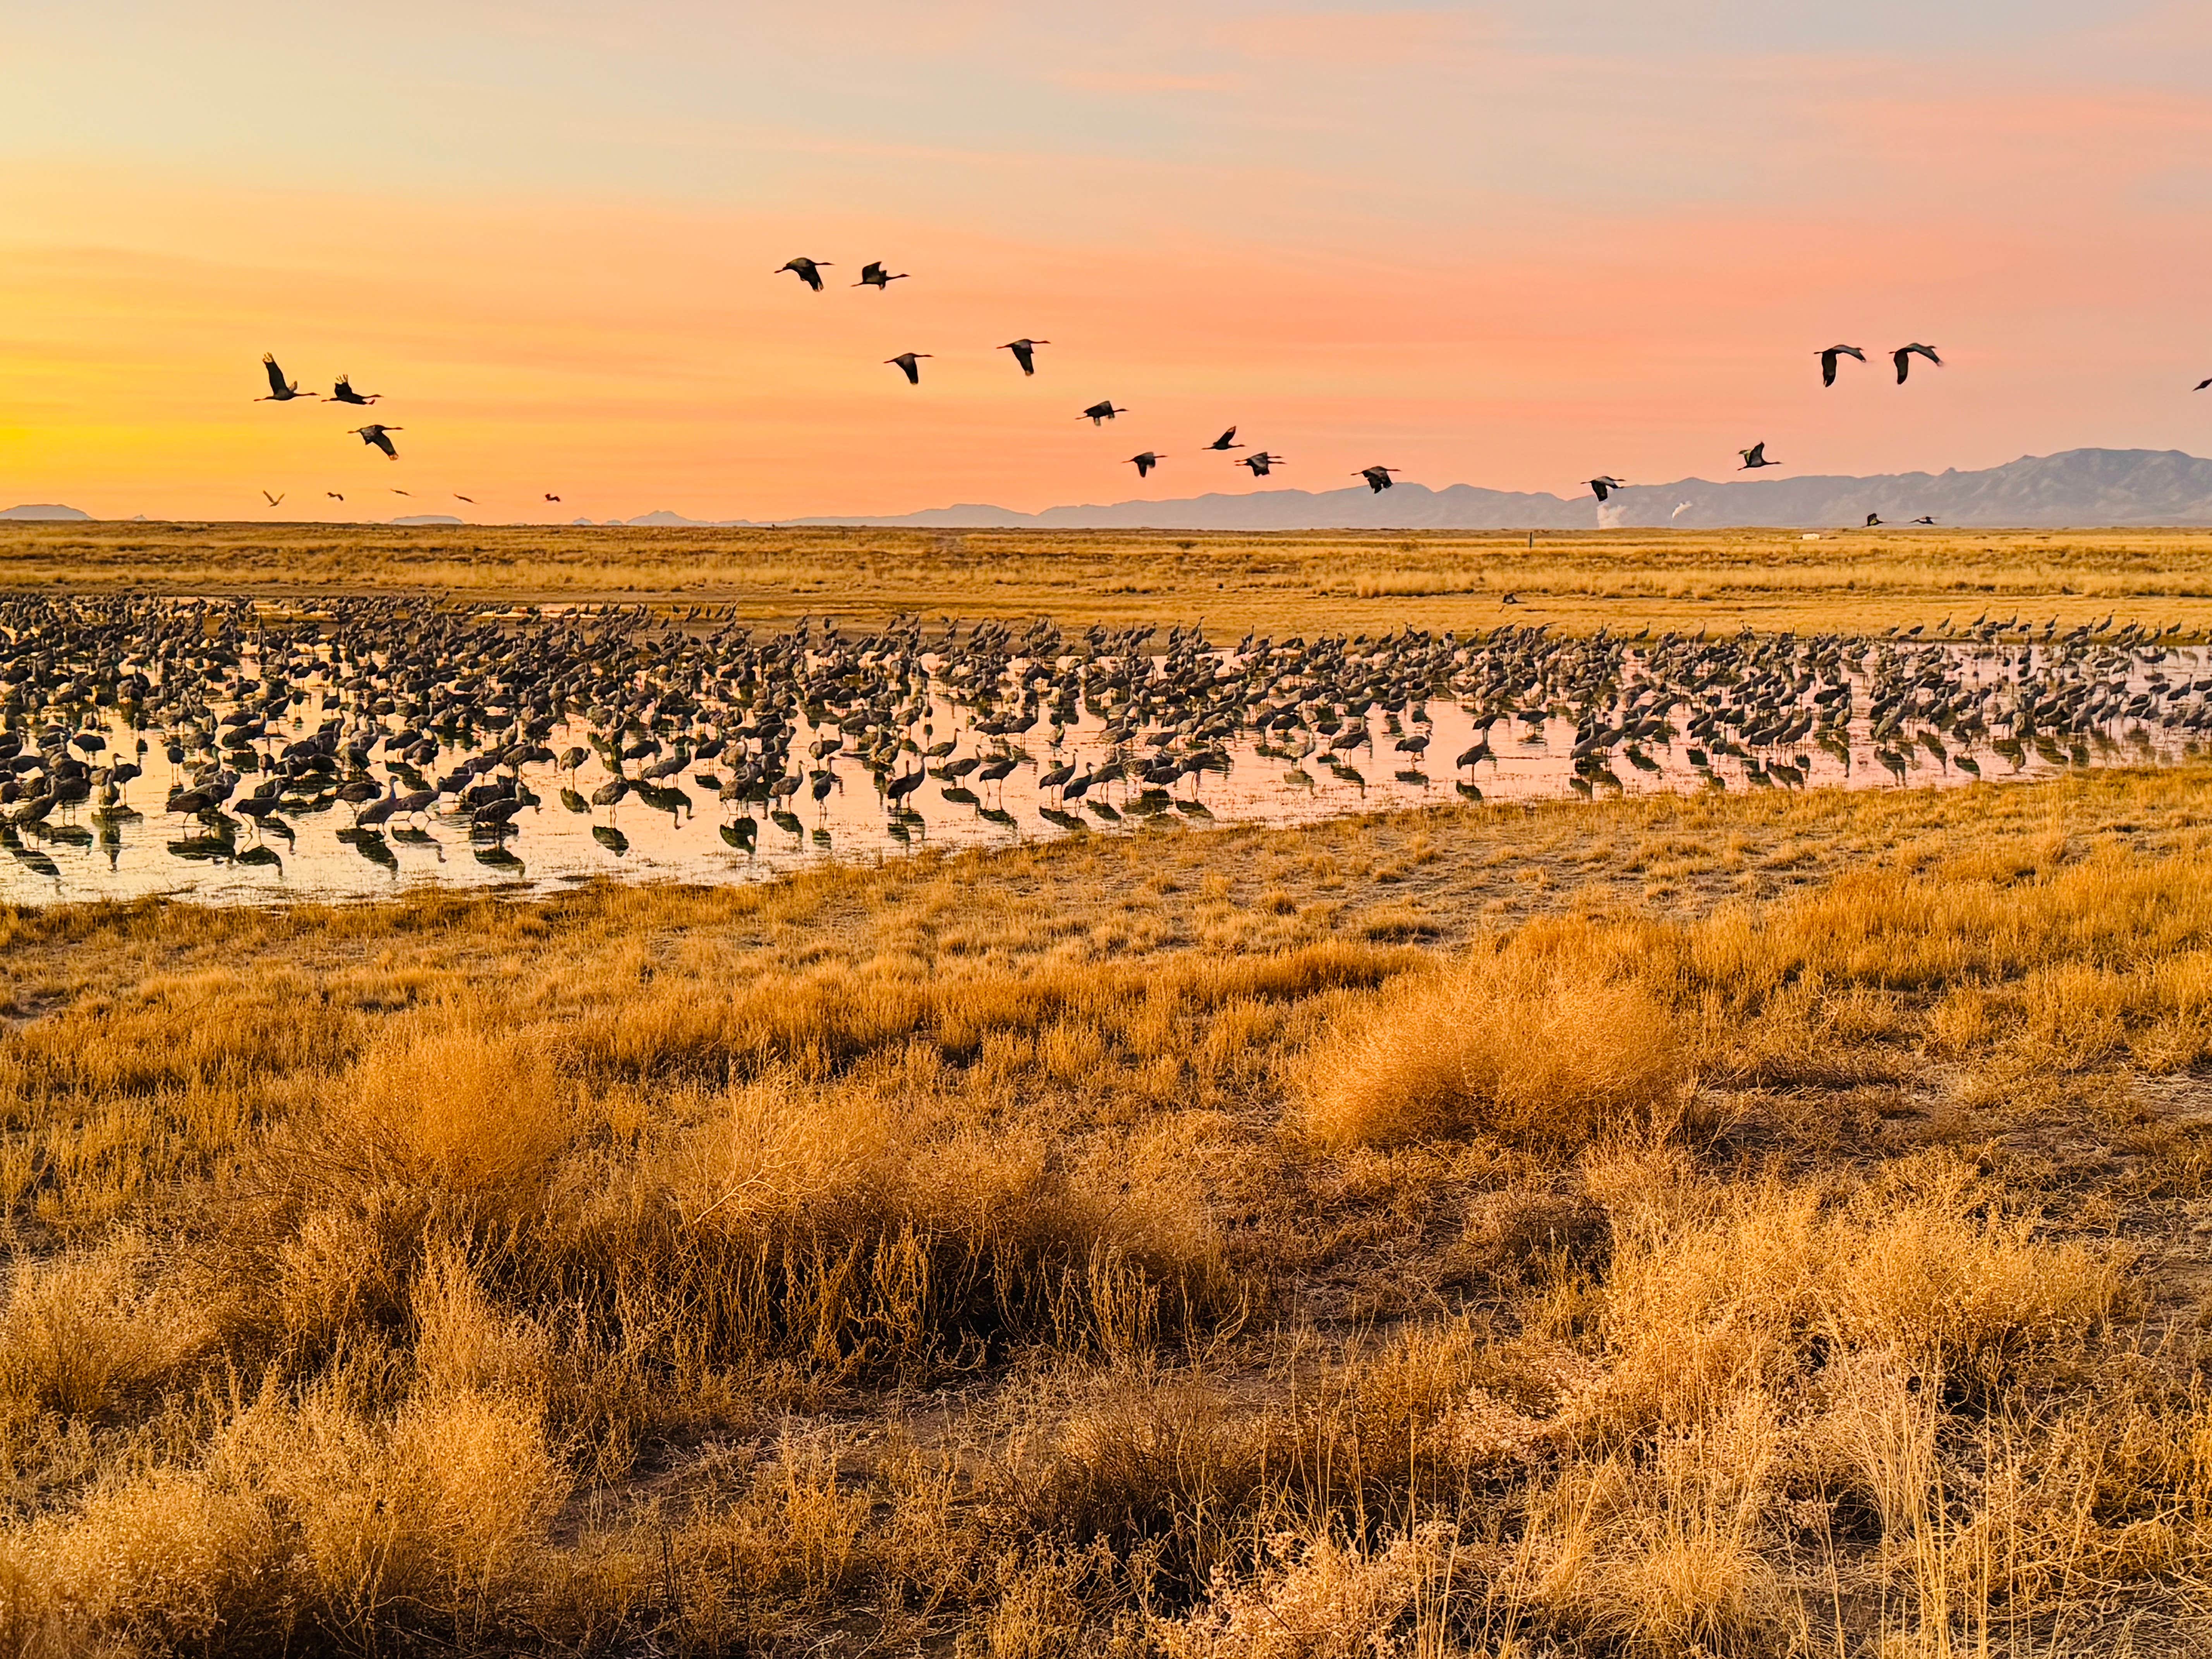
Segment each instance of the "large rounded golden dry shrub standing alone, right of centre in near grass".
M1305 1121L1325 1146L1573 1148L1652 1121L1683 1073L1674 1013L1610 953L1515 945L1345 1013L1310 1057Z

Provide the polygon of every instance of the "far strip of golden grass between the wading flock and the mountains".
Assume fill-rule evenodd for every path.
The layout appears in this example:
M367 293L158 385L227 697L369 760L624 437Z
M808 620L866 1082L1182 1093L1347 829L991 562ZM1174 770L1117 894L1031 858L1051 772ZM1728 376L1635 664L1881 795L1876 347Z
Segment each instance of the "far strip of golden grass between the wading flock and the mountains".
M2119 613L2212 635L2208 531L1053 533L7 524L0 591L672 602L781 624L920 613L1376 630L1774 630ZM1513 595L1515 604L1504 604Z

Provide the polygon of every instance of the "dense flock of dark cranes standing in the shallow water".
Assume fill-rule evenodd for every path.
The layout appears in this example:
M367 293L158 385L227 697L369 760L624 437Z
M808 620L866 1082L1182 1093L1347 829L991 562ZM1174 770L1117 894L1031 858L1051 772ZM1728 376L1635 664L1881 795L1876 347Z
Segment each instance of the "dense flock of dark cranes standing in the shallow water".
M706 608L500 617L380 597L276 613L24 595L0 599L0 849L51 876L49 843L97 834L113 858L142 818L133 785L161 768L177 858L281 865L270 838L296 845L305 821L338 812L338 838L387 869L389 843L431 843L438 825L480 863L518 869L509 843L540 810L588 818L622 854L622 803L681 825L703 792L721 803L721 841L752 854L754 812L805 845L810 801L827 845L827 803L860 779L894 841L922 834L931 785L1011 827L1020 772L1037 818L1077 832L1214 816L1201 781L1263 761L1294 796L1323 776L1365 796L1363 763L1427 787L1444 730L1471 739L1451 772L1473 799L1502 754L1524 781L1548 757L1553 787L1595 794L1626 787L1617 768L1803 787L1820 752L1845 774L1871 761L1905 781L1924 765L1980 774L1982 757L2086 765L2090 745L2150 757L2212 734L2212 675L2177 655L2174 630L1984 615L1922 633L1502 626L1225 646L1199 628L1161 641L902 617L757 637Z

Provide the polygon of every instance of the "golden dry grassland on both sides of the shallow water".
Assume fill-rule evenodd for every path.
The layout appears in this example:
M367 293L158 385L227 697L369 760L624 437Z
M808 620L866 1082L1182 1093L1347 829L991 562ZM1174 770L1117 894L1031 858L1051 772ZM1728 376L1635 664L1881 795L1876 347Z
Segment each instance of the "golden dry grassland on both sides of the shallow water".
M349 535L0 586L2212 624L2183 533ZM2208 860L2185 765L0 911L0 1655L2212 1650Z

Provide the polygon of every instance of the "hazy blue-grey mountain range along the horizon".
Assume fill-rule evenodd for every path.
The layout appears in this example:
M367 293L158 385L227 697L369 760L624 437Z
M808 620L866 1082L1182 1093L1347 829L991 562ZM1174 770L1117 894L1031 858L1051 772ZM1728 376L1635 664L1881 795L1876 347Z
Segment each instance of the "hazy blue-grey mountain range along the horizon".
M1192 495L1172 502L1113 502L1048 507L1015 513L1004 507L933 507L896 518L794 518L779 524L858 524L922 529L1175 529L1175 531L1586 531L1586 529L1723 529L1772 524L1778 529L1843 529L1880 513L1887 524L1933 518L1958 529L2057 529L2099 524L2212 524L2212 460L2179 449L2066 449L2022 456L2004 467L1944 473L1882 473L1878 478L1732 478L1708 482L1628 484L1599 504L1590 495L1559 498L1451 484L1398 484L1374 493L1349 489L1256 489L1239 495ZM9 507L0 520L82 520L75 507ZM445 513L400 518L396 524L458 524ZM591 524L580 518L577 524ZM699 520L641 513L608 524L635 526L752 526L757 520Z

